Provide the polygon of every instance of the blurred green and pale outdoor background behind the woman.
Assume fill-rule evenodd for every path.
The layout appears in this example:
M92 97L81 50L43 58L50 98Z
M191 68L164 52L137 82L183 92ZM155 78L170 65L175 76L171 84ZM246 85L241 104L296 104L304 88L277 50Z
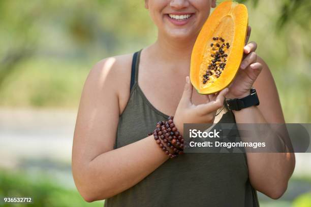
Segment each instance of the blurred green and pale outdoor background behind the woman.
M311 1L240 2L286 121L310 123ZM100 59L156 38L143 1L0 0L0 197L31 196L33 206L103 205L84 202L71 176L83 83ZM311 206L311 156L296 156L286 194L277 201L260 194L261 206Z

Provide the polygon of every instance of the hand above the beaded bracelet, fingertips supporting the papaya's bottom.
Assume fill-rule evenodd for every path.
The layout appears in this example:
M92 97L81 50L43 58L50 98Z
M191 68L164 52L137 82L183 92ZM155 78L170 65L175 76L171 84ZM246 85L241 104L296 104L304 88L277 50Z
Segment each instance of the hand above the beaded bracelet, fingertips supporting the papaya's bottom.
M198 106L192 103L192 91L193 86L187 76L184 91L174 116L174 124L182 135L183 123L213 123L216 111L223 107L225 96L229 90L225 88L218 94L206 95L206 103Z

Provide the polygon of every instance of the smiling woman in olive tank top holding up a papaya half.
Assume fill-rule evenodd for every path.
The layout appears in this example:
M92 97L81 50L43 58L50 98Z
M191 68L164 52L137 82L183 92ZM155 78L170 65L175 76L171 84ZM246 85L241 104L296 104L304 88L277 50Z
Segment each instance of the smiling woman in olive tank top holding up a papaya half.
M90 71L72 165L86 201L107 199L106 206L258 206L256 190L274 199L285 192L293 154L183 154L169 159L153 135L147 135L168 115L175 116L180 132L183 123L285 122L273 78L254 42L245 46L228 89L209 96L193 92L188 77L192 48L215 6L215 0L146 0L158 40L134 57L110 57ZM260 106L225 108L216 116L225 97L250 95L252 86Z

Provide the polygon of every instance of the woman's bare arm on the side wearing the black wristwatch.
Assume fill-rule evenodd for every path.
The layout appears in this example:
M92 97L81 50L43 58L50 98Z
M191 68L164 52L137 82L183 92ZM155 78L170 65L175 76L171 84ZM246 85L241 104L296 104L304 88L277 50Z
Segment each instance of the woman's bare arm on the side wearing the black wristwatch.
M267 64L255 81L255 88L261 100L258 107L234 112L237 123L285 123L276 86ZM247 153L250 181L255 189L277 199L287 189L294 166L294 153Z

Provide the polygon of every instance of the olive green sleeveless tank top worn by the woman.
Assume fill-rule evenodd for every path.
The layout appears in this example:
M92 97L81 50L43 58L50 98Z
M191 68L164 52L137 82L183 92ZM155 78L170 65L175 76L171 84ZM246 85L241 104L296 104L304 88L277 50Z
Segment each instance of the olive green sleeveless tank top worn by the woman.
M147 136L168 115L155 109L138 85L140 52L133 56L131 95L119 117L114 148ZM235 123L225 107L215 122ZM142 155L148 156L148 155ZM245 154L193 153L169 159L150 175L113 197L106 207L116 206L259 206L256 190L248 180Z

